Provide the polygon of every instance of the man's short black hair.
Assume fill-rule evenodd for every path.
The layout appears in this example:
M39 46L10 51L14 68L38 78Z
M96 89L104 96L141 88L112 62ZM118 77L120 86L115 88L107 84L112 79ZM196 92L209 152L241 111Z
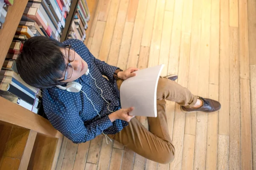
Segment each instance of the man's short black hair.
M66 68L61 48L65 48L63 43L44 36L26 40L17 58L17 71L24 82L36 88L63 84L58 81Z

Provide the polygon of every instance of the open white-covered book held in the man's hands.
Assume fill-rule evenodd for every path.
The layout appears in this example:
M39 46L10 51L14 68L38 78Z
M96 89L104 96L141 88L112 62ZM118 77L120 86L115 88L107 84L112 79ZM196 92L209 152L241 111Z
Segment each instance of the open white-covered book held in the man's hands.
M122 108L134 107L132 116L157 117L157 84L164 65L136 71L135 77L122 82L120 99Z

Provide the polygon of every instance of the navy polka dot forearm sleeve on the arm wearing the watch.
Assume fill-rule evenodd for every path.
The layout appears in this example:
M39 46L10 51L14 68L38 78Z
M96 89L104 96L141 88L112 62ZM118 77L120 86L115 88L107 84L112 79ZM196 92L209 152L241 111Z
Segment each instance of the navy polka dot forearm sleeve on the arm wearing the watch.
M108 65L104 61L96 59L95 57L93 57L93 58L94 58L93 61L94 61L95 65L97 66L97 68L99 68L99 71L101 72L101 74L108 77L108 79L110 81L114 81L114 73L115 73L116 69L118 69L118 67Z

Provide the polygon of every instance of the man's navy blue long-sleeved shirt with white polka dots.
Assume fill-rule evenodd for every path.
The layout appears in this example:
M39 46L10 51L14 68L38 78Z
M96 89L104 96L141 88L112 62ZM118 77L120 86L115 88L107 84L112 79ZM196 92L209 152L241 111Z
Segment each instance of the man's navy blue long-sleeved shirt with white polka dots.
M96 83L103 90L102 96L110 103L109 110L117 111L121 108L119 91L116 80L113 78L117 67L106 64L93 57L88 48L80 40L70 39L63 42L71 45L82 59L88 64L90 74L96 79ZM102 75L108 77L109 80ZM74 143L86 142L96 136L118 133L128 122L116 119L113 123L108 118L108 103L101 97L101 91L96 87L94 80L88 76L76 79L82 85L88 98L93 102L99 115L94 110L91 102L81 91L73 93L61 90L57 87L43 89L43 105L47 118L55 129Z

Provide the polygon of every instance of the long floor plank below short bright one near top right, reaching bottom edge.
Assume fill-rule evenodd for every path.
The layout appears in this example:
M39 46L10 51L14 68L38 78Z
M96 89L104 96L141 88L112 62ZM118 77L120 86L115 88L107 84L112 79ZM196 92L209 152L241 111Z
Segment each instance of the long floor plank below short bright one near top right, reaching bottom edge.
M240 169L240 82L239 82L239 37L238 28L230 27L230 129L229 167Z

